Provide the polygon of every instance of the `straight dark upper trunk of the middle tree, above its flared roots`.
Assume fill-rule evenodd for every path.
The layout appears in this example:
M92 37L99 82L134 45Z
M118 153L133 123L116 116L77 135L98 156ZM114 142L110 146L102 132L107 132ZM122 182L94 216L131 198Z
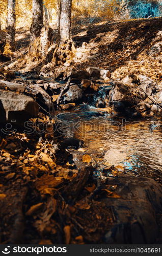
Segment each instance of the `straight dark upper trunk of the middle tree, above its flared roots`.
M42 0L33 0L31 43L33 43L40 36L42 28L43 28L43 2Z

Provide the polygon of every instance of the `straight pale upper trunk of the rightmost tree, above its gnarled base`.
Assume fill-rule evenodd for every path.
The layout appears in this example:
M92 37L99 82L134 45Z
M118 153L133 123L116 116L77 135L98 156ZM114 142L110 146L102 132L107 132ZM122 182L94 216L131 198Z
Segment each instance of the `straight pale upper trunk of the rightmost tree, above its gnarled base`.
M72 0L60 1L59 36L63 42L71 39L71 3Z

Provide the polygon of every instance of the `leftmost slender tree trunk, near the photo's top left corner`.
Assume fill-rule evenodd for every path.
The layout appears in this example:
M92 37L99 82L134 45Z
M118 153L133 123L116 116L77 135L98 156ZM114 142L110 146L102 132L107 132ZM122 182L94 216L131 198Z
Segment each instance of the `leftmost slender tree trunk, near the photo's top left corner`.
M7 14L7 27L6 27L6 45L5 54L11 54L15 51L15 26L16 26L16 13L15 13L16 0L8 0L8 14Z

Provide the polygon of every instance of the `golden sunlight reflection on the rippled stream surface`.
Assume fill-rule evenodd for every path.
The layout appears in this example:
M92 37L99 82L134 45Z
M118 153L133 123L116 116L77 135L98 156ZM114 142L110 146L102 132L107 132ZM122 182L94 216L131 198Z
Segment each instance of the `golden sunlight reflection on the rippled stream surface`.
M150 129L150 121L97 118L82 121L75 137L84 140L87 153L104 152L104 161L139 172L162 171L161 133Z

